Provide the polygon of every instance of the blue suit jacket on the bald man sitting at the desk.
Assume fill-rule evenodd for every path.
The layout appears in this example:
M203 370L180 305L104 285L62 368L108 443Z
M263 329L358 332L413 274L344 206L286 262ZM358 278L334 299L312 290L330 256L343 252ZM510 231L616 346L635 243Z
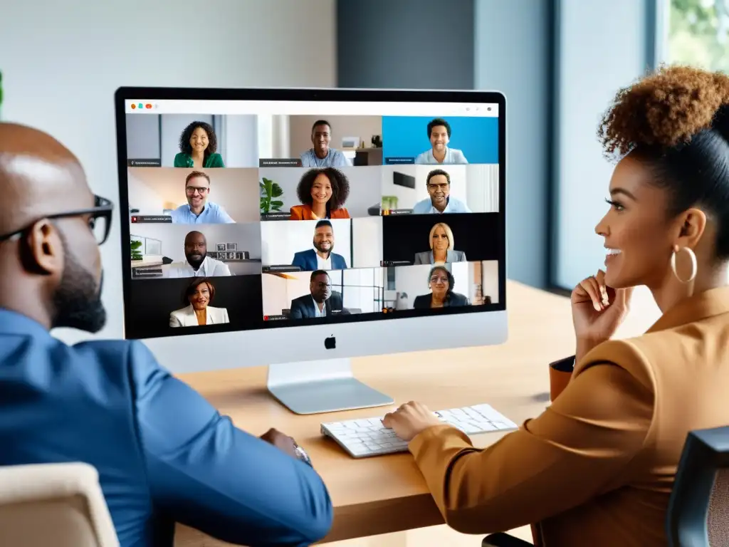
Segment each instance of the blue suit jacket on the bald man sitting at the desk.
M87 462L122 547L175 521L230 543L308 546L332 526L313 468L238 430L138 341L68 346L0 309L0 465Z

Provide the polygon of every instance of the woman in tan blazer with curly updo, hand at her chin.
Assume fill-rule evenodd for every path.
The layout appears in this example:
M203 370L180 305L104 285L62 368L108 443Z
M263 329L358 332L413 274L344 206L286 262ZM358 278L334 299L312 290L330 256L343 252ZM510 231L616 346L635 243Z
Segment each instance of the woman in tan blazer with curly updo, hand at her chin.
M554 364L569 383L485 450L419 403L383 419L461 532L535 524L545 547L666 546L687 433L729 423L729 77L662 68L617 93L599 137L617 159L596 226L607 260L572 291L576 357ZM611 340L638 285L662 316Z

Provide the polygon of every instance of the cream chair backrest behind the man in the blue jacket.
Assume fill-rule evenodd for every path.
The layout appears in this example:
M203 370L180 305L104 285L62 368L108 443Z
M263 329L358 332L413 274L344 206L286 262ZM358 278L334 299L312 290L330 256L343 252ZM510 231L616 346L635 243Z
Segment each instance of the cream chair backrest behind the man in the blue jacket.
M0 545L119 547L95 468L77 462L0 468Z

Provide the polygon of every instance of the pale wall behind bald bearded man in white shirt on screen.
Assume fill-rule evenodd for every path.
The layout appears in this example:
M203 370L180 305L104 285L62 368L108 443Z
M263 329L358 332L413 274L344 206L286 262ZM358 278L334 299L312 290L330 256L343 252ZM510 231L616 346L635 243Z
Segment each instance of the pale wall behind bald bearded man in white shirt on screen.
M249 259L261 258L261 233L259 224L135 224L131 236L162 241L162 255L175 262L184 262L184 238L195 230L202 232L208 242L208 252L216 250L217 243L237 243L239 251L248 251Z

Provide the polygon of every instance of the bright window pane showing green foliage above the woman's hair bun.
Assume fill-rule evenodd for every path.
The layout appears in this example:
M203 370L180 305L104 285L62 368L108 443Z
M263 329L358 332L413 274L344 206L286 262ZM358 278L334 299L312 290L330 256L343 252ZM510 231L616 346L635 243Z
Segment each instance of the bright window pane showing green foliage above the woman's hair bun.
M729 72L729 0L666 0L668 63Z

